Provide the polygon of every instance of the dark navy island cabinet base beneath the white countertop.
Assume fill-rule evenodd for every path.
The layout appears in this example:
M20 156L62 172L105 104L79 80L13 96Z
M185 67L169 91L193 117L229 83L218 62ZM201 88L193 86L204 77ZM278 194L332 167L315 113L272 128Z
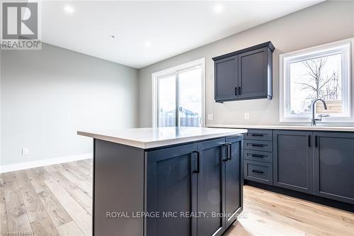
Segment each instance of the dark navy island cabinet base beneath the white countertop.
M148 150L95 139L93 235L222 235L242 211L242 147L242 135Z

